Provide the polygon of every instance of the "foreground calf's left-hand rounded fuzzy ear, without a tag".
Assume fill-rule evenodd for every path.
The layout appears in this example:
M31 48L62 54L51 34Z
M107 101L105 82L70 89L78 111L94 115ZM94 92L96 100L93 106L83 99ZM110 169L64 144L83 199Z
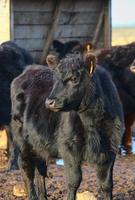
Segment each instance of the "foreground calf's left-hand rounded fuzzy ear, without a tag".
M46 57L46 63L47 65L51 68L51 69L55 69L55 67L57 66L58 64L58 57L55 56L55 55L48 55Z

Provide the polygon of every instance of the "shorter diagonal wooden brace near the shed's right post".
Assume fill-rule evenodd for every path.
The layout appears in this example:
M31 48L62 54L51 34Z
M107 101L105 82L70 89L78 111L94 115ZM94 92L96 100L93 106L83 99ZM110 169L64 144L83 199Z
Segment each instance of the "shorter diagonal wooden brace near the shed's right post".
M104 8L102 9L102 11L99 15L98 23L97 23L97 26L96 26L96 29L95 29L93 40L92 40L92 44L93 44L94 47L96 46L101 27L103 25L103 21L104 21Z

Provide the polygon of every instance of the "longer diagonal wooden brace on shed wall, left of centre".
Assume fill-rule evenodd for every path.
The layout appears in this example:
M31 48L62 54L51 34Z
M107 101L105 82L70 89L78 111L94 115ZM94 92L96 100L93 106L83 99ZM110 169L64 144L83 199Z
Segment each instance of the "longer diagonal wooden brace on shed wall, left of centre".
M48 30L48 35L47 35L47 39L46 39L46 42L45 42L45 47L44 47L43 53L41 55L40 64L42 64L42 65L46 63L46 56L48 54L48 50L49 50L49 48L52 44L52 41L54 39L55 32L57 31L60 13L61 13L61 0L56 0L52 25L51 25L50 29Z

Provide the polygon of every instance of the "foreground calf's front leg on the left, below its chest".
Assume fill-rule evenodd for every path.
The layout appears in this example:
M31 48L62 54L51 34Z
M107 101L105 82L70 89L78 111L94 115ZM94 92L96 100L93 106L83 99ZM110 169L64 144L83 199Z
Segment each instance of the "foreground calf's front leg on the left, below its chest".
M64 153L62 158L64 160L68 190L67 200L75 200L77 189L82 180L81 161L78 155L74 155L73 152L70 153L69 150Z

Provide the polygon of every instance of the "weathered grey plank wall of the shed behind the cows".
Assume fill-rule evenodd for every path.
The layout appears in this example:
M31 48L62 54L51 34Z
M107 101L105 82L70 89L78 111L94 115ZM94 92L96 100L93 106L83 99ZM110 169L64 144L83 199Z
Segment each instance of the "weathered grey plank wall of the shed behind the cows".
M92 41L102 10L102 0L62 1L55 39ZM12 39L40 57L53 19L54 0L12 0ZM103 28L97 47L104 45Z

